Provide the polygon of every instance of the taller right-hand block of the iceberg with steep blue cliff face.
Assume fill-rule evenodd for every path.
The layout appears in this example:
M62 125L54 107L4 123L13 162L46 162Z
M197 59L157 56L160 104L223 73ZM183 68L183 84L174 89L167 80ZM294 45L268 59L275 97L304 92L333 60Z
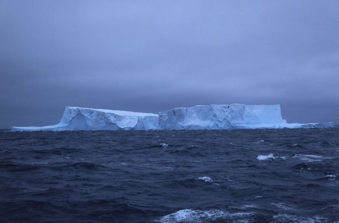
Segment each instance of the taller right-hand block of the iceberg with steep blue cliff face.
M197 105L159 112L161 129L281 127L280 105Z

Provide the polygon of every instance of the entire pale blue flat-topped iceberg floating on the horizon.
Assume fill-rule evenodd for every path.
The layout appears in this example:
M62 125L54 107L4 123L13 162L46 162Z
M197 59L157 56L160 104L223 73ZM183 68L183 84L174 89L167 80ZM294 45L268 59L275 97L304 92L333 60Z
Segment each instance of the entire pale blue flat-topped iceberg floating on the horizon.
M179 130L238 128L325 128L333 123L288 124L280 105L212 104L140 113L66 107L59 124L12 127L12 131L37 130Z

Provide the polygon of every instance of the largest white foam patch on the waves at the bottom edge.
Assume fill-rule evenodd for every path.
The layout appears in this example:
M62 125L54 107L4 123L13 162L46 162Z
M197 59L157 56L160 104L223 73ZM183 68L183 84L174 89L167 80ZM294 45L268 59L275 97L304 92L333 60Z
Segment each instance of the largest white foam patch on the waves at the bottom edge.
M205 223L211 221L254 223L253 212L230 213L224 210L193 210L184 209L166 215L159 219L159 223Z

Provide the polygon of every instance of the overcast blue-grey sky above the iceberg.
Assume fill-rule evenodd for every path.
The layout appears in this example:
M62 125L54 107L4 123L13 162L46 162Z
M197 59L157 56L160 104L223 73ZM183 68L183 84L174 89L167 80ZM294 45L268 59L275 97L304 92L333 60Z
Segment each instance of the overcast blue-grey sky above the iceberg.
M229 103L339 124L339 1L0 0L0 128Z

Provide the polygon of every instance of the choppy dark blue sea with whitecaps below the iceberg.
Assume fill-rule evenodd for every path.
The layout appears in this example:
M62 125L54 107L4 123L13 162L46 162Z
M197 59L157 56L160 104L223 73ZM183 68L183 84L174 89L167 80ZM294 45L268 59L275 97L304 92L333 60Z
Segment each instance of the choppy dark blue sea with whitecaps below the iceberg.
M0 222L332 223L339 129L0 132Z

